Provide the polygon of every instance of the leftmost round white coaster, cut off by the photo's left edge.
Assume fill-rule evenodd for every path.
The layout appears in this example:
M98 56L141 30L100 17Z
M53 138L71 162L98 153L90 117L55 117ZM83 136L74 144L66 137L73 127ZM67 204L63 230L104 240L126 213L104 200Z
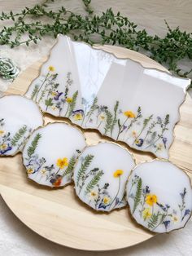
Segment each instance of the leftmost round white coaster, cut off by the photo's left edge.
M37 104L21 95L7 95L0 99L0 156L20 152L28 136L43 118Z

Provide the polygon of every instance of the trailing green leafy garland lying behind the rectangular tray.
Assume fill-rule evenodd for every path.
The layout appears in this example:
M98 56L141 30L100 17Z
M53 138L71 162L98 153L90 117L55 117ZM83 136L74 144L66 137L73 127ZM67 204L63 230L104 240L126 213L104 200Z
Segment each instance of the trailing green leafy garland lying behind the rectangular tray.
M146 55L166 65L172 73L181 77L188 77L192 73L192 68L188 71L179 68L180 61L185 58L192 63L192 33L182 32L179 27L171 29L165 21L168 27L165 37L151 36L146 29L138 29L137 24L120 15L120 12L115 14L109 8L102 15L94 15L91 0L82 1L87 13L85 16L68 11L65 7L49 11L49 0L32 8L25 7L19 13L2 12L0 20L13 20L13 24L0 31L0 45L29 46L31 42L37 44L45 36L56 38L58 33L62 33L90 45L112 44L134 51L144 50Z

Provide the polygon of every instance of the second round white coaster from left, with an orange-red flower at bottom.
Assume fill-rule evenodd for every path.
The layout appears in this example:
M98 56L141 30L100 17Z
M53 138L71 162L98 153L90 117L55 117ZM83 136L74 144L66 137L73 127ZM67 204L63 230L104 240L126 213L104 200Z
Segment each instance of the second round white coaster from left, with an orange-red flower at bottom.
M85 137L67 123L38 128L24 146L23 160L28 178L50 187L72 181L76 157L85 148Z

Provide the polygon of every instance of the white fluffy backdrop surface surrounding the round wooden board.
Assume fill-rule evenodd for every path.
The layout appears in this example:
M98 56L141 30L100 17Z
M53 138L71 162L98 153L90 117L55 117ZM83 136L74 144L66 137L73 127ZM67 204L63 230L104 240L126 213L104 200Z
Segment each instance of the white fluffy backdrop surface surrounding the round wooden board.
M33 6L37 0L0 0L1 11L18 11L25 5ZM55 0L55 5L63 2L68 9L82 12L81 0ZM135 21L140 27L147 29L150 33L162 35L166 31L164 19L168 20L171 27L180 25L181 29L192 30L192 1L191 0L92 0L94 10L104 11L107 7L112 7L114 11L121 11L128 15L130 20ZM3 24L6 25L6 24ZM2 26L0 21L0 27ZM38 46L20 46L10 49L8 46L0 46L0 56L10 57L16 64L24 70L33 62L49 53L50 47L54 44L51 38L45 38ZM185 62L185 66L188 63ZM0 81L0 90L6 90L9 83ZM75 249L68 249L61 245L56 245L32 232L24 226L19 219L11 213L5 202L0 197L0 255L3 256L41 256L41 255L70 255L70 256L94 256L94 255L192 255L192 221L180 231L155 236L149 241L128 249L120 249L112 252L85 252Z

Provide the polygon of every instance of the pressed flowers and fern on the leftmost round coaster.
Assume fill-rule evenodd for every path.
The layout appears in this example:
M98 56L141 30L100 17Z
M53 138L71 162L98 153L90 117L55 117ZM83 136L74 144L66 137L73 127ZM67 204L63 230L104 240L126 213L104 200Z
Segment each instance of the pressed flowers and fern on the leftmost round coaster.
M14 135L11 135L11 132L6 130L6 119L0 119L0 156L10 155L12 150L14 150L13 154L22 150L31 132L32 129L24 125Z

